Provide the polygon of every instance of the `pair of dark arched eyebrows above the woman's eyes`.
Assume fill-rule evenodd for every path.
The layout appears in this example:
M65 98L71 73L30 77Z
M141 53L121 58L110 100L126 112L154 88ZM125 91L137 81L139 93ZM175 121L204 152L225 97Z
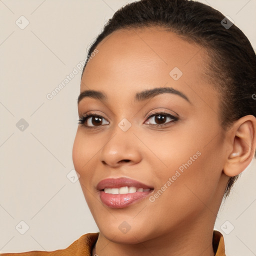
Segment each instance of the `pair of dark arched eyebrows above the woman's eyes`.
M159 88L156 87L153 89L148 89L148 90L143 90L143 91L137 92L135 94L134 100L135 101L143 101L145 99L152 98L152 97L155 97L156 95L163 94L163 93L171 93L171 94L178 95L178 96L184 98L186 101L188 101L191 104L190 100L184 93L182 93L181 91L176 90L172 87L159 87ZM79 96L77 98L77 104L85 97L94 98L94 99L98 99L98 100L104 100L104 101L107 100L107 95L102 91L84 90L79 94Z

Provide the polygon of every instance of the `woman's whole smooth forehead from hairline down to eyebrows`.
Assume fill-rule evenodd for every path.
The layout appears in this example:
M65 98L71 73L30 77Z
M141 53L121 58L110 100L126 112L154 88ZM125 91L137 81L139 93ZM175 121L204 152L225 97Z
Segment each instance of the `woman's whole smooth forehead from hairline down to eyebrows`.
M124 91L133 97L137 91L163 86L189 93L190 86L209 94L206 51L164 28L119 29L96 48L84 69L81 91L101 90L120 100Z

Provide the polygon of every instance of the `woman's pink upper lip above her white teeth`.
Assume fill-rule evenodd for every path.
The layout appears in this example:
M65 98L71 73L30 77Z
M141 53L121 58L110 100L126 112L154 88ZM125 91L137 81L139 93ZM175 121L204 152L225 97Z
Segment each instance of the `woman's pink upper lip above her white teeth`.
M101 181L98 182L96 188L98 190L103 190L104 188L120 188L122 186L135 186L137 188L151 188L153 187L148 186L146 184L143 184L137 180L131 179L131 178L125 178L125 177L120 177L120 178L106 178L102 179Z

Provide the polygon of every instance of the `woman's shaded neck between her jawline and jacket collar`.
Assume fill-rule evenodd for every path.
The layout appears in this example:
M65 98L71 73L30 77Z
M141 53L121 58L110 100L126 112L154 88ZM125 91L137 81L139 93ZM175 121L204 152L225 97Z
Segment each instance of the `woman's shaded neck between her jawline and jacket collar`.
M137 235L137 243L135 244L119 243L115 241L117 235L113 235L112 239L107 239L102 233L99 233L94 253L99 256L214 256L215 253L212 247L213 227L214 221L209 225L209 223L205 224L205 221L200 218L191 226L183 223L173 228L173 231L142 242L140 236ZM136 234L134 236L136 237Z

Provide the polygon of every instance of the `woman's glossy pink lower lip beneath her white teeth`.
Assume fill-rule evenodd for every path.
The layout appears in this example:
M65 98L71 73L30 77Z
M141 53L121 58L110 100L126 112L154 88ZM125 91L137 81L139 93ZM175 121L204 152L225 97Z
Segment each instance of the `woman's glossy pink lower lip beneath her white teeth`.
M99 197L101 201L108 207L124 208L133 202L147 197L147 195L151 192L152 190L127 194L110 194L105 193L104 191L100 191Z

